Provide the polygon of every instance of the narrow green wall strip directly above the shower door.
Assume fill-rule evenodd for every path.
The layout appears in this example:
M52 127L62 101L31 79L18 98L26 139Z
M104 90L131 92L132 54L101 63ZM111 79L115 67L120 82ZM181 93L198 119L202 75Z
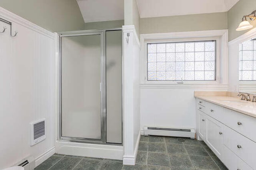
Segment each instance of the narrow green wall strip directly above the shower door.
M86 22L84 23L84 29L121 28L123 25L124 25L124 20Z

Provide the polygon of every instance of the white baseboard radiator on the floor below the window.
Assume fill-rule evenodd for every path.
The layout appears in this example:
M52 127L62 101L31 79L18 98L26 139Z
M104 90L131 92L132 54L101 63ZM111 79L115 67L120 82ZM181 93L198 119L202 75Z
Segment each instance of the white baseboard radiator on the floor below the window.
M195 129L144 126L144 135L189 137L195 139Z

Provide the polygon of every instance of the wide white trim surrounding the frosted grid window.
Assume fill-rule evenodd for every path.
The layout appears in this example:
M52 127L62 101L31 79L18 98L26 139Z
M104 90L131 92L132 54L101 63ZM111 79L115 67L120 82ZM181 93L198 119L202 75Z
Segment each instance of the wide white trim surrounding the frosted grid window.
M200 41L200 40L216 40L216 80L200 80L186 81L183 84L178 84L177 80L147 80L147 43L160 42L179 42L179 41ZM228 82L228 30L210 30L210 31L190 31L177 33L154 33L141 34L141 70L140 84L141 85L174 85L174 86L193 86L193 85L218 85L227 84ZM221 63L221 65L220 65ZM220 77L221 75L221 77Z

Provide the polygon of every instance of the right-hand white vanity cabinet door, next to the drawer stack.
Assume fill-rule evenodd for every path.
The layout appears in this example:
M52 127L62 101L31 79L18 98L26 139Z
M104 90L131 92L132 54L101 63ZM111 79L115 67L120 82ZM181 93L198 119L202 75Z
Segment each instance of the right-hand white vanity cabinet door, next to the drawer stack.
M222 123L210 116L206 117L206 136L205 143L222 160L223 153L223 132Z

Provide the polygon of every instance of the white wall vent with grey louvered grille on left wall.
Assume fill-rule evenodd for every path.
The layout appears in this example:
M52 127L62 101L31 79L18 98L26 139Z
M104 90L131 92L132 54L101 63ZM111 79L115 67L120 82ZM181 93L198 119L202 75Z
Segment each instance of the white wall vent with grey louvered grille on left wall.
M31 146L43 141L45 135L45 119L30 123L31 125Z

